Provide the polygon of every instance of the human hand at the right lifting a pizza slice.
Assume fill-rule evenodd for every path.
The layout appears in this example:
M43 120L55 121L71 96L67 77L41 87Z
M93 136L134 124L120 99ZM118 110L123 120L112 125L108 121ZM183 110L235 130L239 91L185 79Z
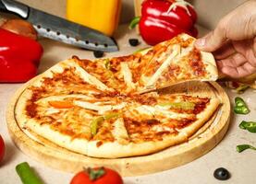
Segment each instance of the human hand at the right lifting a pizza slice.
M197 40L213 52L220 73L240 78L256 72L256 1L250 0L223 17L216 29Z

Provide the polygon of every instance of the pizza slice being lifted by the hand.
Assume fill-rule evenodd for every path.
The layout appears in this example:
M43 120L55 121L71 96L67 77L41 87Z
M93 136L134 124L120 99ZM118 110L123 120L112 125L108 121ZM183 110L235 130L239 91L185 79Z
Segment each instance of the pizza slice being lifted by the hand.
M144 66L140 75L142 90L159 89L186 81L215 81L217 67L210 52L200 52L196 39L187 34L159 43L141 56Z

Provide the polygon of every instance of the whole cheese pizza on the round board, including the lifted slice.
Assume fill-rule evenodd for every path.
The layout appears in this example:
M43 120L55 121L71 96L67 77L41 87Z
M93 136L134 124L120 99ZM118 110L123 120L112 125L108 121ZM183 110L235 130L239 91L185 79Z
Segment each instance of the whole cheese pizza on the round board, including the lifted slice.
M18 99L18 125L92 157L148 155L184 143L220 105L215 96L163 89L216 79L213 57L193 41L180 35L128 56L57 63Z

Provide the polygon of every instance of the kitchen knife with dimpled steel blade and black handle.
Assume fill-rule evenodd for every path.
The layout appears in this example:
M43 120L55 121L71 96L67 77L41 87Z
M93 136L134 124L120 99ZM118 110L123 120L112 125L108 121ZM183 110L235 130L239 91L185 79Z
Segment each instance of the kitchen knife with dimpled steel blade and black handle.
M50 15L17 1L0 0L0 10L26 19L43 37L93 51L118 51L116 42L98 30Z

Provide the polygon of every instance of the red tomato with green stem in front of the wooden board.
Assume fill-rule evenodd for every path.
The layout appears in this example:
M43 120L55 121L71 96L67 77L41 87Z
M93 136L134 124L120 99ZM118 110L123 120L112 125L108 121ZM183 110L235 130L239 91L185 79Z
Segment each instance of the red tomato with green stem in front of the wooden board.
M101 168L92 168L92 172L97 172ZM70 184L123 184L123 179L120 175L110 168L105 168L104 174L95 180L91 180L88 171L80 171L78 174L72 178Z

